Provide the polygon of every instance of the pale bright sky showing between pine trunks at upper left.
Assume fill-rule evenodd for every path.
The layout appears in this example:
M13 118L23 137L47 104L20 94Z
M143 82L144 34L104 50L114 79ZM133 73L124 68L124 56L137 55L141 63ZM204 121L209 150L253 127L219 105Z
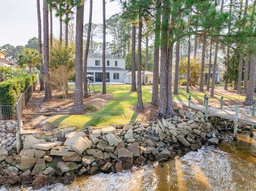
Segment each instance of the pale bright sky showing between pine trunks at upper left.
M40 0L41 19L43 29L43 0ZM84 23L89 21L89 0L85 2ZM11 44L13 46L25 45L28 40L38 36L36 0L0 0L0 46ZM120 13L118 2L106 3L106 19L111 15ZM75 20L73 21L75 22ZM92 22L102 23L102 1L93 1ZM53 35L59 36L59 20L53 16ZM107 36L107 41L111 38Z

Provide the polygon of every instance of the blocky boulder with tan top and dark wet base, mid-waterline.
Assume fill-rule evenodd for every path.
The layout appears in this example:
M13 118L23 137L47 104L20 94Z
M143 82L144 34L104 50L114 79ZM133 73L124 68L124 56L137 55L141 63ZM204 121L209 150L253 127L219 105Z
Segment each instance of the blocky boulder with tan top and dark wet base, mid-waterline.
M120 148L117 153L118 160L122 161L122 169L130 170L132 168L133 153L126 148Z

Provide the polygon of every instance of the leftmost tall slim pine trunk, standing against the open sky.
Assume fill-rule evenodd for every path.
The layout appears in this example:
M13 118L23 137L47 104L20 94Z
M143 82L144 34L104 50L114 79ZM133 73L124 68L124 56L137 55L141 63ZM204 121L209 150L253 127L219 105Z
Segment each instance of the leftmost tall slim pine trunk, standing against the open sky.
M42 27L41 27L41 13L40 1L37 0L37 21L38 21L38 56L39 56L39 70L40 70L40 91L44 90L44 65L42 59Z

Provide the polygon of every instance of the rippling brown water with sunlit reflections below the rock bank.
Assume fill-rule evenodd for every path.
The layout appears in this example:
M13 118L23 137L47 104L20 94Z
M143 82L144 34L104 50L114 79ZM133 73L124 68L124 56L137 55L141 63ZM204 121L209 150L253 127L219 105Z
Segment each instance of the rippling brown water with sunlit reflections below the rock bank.
M239 134L234 143L227 136L218 147L203 146L162 164L82 176L71 185L55 184L41 190L256 190L256 139Z

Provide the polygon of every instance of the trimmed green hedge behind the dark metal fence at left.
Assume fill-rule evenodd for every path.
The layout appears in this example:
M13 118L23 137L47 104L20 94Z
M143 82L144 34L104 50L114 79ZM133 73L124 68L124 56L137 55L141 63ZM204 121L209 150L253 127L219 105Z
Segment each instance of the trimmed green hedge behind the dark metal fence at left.
M0 105L14 105L19 96L37 80L37 76L22 76L0 82Z

